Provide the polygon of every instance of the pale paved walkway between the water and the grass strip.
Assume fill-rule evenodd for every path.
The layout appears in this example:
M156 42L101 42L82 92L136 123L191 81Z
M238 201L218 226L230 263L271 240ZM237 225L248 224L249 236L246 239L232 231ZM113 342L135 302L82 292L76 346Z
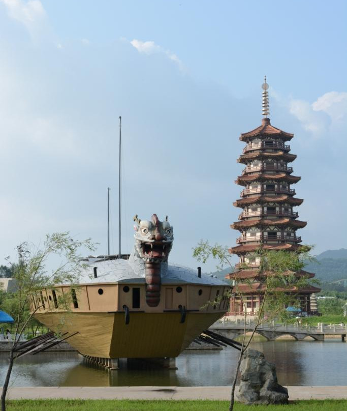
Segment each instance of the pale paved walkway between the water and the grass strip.
M287 387L290 400L347 399L347 387ZM230 387L15 387L8 399L229 400Z

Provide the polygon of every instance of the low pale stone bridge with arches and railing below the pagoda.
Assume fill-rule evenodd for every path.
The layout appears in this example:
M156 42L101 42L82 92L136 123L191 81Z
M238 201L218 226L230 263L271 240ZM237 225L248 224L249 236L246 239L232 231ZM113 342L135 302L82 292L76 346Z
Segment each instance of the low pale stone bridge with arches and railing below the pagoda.
M251 332L254 330L255 322L235 320L220 320L216 321L209 329L225 337L234 339L238 335L244 334L244 331ZM282 335L290 335L296 340L300 341L306 337L312 337L317 341L324 341L325 335L339 335L341 341L345 341L347 334L347 324L319 324L317 327L299 326L293 324L275 324L274 322L267 322L260 324L256 331L257 334L262 335L268 341L274 341Z

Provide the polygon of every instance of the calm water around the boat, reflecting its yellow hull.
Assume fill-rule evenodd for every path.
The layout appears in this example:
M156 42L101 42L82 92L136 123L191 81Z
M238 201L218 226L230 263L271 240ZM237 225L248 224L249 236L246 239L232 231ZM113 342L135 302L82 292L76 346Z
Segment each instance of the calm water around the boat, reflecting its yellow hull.
M347 386L347 343L326 341L253 342L276 364L281 385ZM238 357L234 348L187 350L177 359L178 370L148 365L106 371L86 364L77 353L42 353L19 359L11 386L227 386L231 385ZM7 353L0 354L0 381L4 381Z

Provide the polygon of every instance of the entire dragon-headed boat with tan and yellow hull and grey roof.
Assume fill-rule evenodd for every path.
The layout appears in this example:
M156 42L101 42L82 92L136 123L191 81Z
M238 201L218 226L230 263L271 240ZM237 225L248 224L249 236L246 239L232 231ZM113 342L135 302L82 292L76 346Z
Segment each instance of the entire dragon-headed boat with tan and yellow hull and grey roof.
M135 221L130 255L84 258L77 286L56 284L30 297L35 318L84 356L175 358L228 310L228 284L168 264L167 218ZM69 310L58 304L64 294L72 296Z

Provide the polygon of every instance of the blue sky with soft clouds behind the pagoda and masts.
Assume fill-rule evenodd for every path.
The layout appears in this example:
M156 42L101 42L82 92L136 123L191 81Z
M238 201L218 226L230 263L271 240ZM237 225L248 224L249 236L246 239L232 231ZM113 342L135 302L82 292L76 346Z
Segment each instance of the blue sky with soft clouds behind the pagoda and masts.
M343 0L0 0L0 264L57 231L106 253L107 187L118 252L119 115L121 251L153 213L173 263L200 265L201 239L235 246L238 137L261 124L264 75L271 124L295 134L297 233L347 248L346 17Z

